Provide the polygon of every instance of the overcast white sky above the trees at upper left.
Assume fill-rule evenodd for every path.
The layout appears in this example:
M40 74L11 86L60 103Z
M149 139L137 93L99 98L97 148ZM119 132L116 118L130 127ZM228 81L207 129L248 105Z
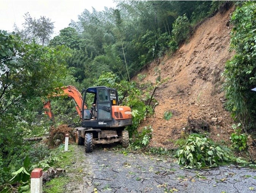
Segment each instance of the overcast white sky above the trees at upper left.
M51 18L55 33L68 27L71 19L77 20L84 9L92 12L92 7L102 11L104 7L115 7L112 0L0 0L0 30L13 31L13 25L21 28L24 14L29 12L36 19L40 16Z

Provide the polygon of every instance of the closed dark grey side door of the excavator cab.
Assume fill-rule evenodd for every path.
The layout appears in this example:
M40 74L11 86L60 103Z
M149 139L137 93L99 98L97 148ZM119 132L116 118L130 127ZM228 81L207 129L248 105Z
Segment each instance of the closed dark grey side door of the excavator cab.
M106 88L98 88L97 90L97 120L111 121L112 120L111 100L109 91Z

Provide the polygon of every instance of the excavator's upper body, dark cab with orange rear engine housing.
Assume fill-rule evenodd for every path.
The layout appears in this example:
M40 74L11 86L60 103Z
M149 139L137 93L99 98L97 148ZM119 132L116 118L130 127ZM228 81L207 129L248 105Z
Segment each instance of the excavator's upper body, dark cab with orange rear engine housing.
M82 127L124 128L132 124L131 108L119 106L117 90L106 86L85 89L82 103ZM92 108L85 103L92 104Z

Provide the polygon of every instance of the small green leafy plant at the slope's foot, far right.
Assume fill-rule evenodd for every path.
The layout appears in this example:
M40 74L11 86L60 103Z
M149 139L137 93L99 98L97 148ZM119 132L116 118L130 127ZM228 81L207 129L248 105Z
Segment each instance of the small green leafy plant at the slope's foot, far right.
M240 151L247 149L247 135L241 133L241 123L232 125L232 128L235 130L235 133L231 133L231 147L234 149L239 149Z

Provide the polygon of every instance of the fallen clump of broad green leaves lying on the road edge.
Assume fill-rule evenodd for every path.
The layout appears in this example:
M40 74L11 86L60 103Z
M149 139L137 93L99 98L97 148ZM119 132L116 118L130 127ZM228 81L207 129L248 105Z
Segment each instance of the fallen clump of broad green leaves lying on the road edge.
M177 157L179 164L185 168L218 166L231 159L228 148L218 146L209 138L198 134L191 134L186 139L186 144L177 151Z

